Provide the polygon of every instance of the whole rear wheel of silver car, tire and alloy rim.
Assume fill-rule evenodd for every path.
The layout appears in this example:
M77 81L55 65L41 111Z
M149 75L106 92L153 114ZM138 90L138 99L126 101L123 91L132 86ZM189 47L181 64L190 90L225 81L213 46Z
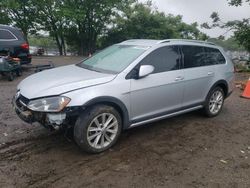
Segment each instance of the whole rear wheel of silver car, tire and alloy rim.
M223 107L225 94L221 87L215 87L209 91L206 98L204 113L207 117L217 116Z

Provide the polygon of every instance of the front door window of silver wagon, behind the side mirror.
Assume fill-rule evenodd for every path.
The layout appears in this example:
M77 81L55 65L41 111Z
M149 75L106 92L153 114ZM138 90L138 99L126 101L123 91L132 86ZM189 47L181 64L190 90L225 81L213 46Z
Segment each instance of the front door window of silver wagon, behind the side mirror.
M141 65L154 66L154 73L179 69L180 54L177 46L166 46L156 49L146 56Z

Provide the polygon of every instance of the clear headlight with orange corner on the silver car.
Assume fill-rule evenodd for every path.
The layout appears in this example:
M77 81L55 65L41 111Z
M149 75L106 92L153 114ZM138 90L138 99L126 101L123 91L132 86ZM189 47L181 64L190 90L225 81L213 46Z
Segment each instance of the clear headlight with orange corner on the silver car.
M68 97L49 97L30 101L27 107L38 112L60 112L69 102Z

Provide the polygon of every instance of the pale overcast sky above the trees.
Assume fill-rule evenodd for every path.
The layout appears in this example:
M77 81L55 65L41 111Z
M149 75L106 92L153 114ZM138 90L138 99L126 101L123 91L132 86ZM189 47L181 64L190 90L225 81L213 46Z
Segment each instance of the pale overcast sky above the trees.
M146 2L147 0L139 0ZM182 15L186 23L211 22L210 15L212 12L218 12L222 21L240 20L250 18L250 5L244 3L241 7L229 6L227 0L152 0L153 7L166 14ZM210 37L223 35L228 38L232 32L226 32L223 29L201 29Z

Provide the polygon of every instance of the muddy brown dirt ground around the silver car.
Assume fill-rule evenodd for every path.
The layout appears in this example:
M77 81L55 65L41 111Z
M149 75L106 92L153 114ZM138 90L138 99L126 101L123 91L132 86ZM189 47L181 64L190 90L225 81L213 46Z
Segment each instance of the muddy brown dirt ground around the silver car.
M80 59L36 57L34 64ZM15 115L11 98L31 73L0 77L0 187L250 187L250 100L239 89L215 118L192 112L130 129L109 151L90 155Z

